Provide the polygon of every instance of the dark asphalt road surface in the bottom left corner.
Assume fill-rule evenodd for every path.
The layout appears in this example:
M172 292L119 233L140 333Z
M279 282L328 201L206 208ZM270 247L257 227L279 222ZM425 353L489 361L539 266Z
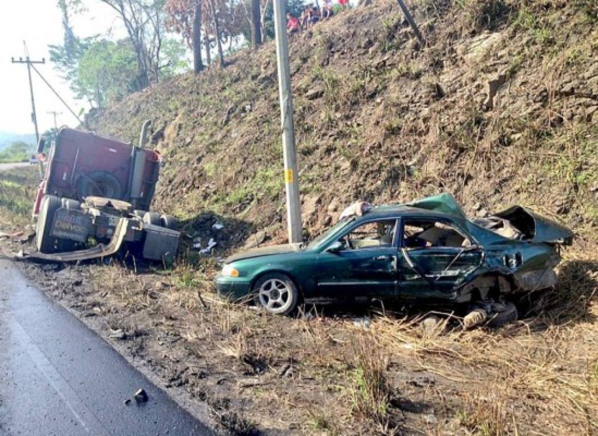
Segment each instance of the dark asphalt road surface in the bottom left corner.
M165 434L213 433L0 260L0 435Z

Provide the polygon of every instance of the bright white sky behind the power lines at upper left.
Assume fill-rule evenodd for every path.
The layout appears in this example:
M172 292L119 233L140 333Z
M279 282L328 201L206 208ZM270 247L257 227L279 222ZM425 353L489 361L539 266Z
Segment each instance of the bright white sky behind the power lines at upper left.
M116 37L124 36L120 22L110 8L99 0L86 0L87 11L72 17L75 35L86 37L111 30ZM17 0L4 2L0 14L0 132L33 134L31 98L25 64L11 63L11 57L25 57L26 41L32 60L45 57L44 65L35 65L68 105L78 113L89 108L84 101L74 99L68 84L60 78L49 62L48 45L63 43L62 14L57 0ZM62 112L57 124L77 126L78 122L41 78L32 70L33 93L39 133L54 126L49 111Z

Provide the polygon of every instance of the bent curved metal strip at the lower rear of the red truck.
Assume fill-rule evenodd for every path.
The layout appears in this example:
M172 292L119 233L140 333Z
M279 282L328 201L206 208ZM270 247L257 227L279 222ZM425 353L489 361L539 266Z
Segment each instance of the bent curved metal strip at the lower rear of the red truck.
M123 246L124 237L127 234L129 219L121 217L114 229L114 235L108 244L98 244L87 250L78 250L76 252L66 253L34 253L32 255L17 256L16 259L22 259L30 262L50 263L50 262L77 262L87 261L89 259L105 258L114 255Z

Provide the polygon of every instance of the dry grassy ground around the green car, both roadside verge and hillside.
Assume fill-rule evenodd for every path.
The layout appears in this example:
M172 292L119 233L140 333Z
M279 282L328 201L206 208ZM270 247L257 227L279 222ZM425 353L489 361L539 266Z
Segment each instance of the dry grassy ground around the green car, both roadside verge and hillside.
M356 198L449 190L472 216L530 205L578 234L560 286L500 331L306 308L269 317L218 299L214 257L172 270L117 259L37 274L48 293L205 401L237 434L594 434L598 431L598 31L591 0L393 2L291 39L306 232ZM219 243L284 237L274 47L130 96L97 130L154 121L155 207ZM212 230L215 222L225 228ZM327 316L322 316L325 310ZM370 308L364 309L368 315ZM354 318L359 317L355 322ZM124 331L110 338L114 331ZM120 338L119 338L120 337ZM123 342L124 341L124 342ZM124 344L124 347L123 347Z

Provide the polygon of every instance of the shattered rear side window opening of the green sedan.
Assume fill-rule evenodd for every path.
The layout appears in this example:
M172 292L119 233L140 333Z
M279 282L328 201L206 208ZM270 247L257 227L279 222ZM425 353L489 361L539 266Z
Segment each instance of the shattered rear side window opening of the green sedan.
M408 249L470 247L471 241L446 223L425 219L407 219L403 230L403 244Z

